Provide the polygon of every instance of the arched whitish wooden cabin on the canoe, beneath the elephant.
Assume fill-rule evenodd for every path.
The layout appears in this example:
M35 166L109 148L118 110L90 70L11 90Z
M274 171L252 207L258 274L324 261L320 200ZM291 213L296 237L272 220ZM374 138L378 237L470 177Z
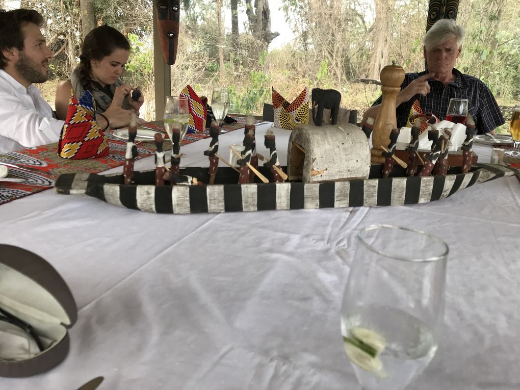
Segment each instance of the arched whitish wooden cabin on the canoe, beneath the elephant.
M295 128L287 161L289 180L303 183L366 179L370 173L367 137L351 123Z

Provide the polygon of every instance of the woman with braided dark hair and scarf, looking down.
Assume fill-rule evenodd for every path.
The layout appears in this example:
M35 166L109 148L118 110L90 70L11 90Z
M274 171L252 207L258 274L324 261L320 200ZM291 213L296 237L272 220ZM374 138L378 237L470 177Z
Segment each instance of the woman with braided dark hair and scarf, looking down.
M109 25L90 31L81 48L80 64L74 69L70 80L58 85L56 90L56 115L64 120L67 115L71 88L79 99L88 90L96 101L96 113L103 114L111 107L134 110L144 98L138 89L124 84L120 75L128 61L130 44L126 37ZM130 92L135 92L132 96Z

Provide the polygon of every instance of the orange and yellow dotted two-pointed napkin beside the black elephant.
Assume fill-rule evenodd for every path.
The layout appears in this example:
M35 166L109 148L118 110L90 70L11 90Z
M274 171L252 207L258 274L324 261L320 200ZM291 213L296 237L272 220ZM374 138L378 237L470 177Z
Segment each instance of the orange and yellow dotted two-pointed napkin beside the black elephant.
M272 88L272 108L275 112L275 127L293 130L309 124L309 88L304 90L292 103L285 100Z

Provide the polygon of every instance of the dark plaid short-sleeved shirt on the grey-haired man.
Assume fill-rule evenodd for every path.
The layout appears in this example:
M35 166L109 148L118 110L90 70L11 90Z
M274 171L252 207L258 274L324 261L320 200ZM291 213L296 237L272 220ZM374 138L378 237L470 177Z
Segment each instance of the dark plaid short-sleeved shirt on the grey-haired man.
M413 80L427 73L427 70L420 73L407 73L405 81L402 82L401 90L407 87ZM440 81L428 80L431 88L428 95L415 95L409 101L401 103L396 110L397 127L406 126L410 109L415 100L419 101L423 112L431 112L441 121L446 119L448 103L452 98L469 100L468 110L475 121L477 134L489 133L505 123L497 101L486 84L476 77L462 74L454 68L453 74L457 76L457 79L448 85L444 86ZM373 105L381 104L381 101L382 96Z

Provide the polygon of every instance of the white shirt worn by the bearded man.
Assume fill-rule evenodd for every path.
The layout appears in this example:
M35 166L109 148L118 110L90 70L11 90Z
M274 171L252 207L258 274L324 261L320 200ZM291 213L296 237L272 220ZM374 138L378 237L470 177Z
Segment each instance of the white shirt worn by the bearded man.
M0 153L56 142L63 123L40 89L25 88L0 69Z

